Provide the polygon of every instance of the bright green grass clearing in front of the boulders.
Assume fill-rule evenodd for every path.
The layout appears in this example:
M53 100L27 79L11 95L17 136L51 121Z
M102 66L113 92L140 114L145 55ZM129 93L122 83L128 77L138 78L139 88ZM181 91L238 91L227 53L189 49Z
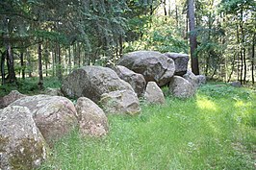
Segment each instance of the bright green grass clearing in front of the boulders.
M102 138L78 131L56 142L40 169L255 169L256 93L204 85L140 115L108 115Z

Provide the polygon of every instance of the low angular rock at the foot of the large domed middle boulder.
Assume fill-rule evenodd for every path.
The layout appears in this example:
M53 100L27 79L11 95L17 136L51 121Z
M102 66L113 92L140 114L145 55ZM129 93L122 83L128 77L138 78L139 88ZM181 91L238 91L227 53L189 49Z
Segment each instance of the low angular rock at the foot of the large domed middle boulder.
M101 95L100 104L106 113L133 115L141 111L139 99L131 90L104 93Z

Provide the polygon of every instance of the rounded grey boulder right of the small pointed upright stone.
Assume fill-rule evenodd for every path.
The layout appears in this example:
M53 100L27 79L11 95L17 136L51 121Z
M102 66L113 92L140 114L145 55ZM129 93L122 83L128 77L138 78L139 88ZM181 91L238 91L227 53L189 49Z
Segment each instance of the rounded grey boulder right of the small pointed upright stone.
M189 81L180 76L173 76L169 83L169 91L175 97L192 97L195 93L195 90L196 88Z

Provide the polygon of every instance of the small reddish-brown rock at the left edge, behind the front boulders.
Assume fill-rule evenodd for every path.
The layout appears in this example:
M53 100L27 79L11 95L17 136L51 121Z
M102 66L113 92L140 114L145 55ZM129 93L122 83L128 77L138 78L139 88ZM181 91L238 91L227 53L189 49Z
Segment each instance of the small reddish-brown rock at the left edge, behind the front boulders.
M8 95L0 98L0 109L3 109L10 104L12 104L15 100L18 100L22 97L26 97L25 94L21 94L17 90L12 90Z

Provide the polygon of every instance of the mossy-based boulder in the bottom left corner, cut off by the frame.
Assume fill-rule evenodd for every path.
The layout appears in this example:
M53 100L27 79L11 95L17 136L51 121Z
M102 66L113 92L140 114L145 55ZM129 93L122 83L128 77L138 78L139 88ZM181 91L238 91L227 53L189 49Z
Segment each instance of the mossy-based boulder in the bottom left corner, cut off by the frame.
M47 144L26 107L0 109L0 169L36 169Z

